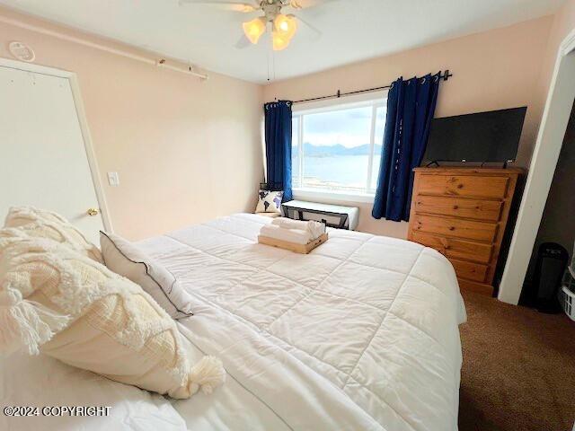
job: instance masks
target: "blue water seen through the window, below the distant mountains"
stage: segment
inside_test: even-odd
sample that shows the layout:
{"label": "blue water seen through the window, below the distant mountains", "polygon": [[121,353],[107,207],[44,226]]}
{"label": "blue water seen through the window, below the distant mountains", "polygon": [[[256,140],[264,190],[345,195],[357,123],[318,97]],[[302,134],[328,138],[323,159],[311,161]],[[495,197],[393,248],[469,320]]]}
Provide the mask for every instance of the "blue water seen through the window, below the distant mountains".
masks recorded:
{"label": "blue water seen through the window, below the distant mountains", "polygon": [[[365,191],[368,163],[367,155],[304,157],[303,187]],[[371,189],[376,188],[379,163],[379,156],[374,157]],[[300,187],[297,157],[293,159],[292,176],[294,187]]]}

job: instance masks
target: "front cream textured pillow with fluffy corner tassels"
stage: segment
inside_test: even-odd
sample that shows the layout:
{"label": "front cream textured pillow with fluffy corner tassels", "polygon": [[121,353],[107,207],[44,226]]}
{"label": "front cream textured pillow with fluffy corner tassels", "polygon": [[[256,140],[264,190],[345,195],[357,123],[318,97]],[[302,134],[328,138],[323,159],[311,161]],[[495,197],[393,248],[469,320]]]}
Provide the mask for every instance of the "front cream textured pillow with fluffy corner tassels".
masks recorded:
{"label": "front cream textured pillow with fluffy corner tassels", "polygon": [[175,322],[140,286],[17,231],[0,230],[0,354],[41,352],[179,399],[224,382],[215,357],[190,366]]}

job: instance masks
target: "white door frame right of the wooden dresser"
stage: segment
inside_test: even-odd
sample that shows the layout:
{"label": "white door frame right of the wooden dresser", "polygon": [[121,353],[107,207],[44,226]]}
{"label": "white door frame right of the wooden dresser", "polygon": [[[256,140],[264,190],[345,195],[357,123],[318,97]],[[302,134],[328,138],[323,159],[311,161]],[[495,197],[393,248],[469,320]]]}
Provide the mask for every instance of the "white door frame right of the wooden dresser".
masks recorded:
{"label": "white door frame right of the wooden dresser", "polygon": [[[509,247],[509,257],[501,278],[498,298],[505,303],[519,302],[525,282],[527,267],[575,100],[573,76],[575,76],[575,29],[562,41],[555,60],[553,78]],[[571,193],[572,190],[567,192]]]}

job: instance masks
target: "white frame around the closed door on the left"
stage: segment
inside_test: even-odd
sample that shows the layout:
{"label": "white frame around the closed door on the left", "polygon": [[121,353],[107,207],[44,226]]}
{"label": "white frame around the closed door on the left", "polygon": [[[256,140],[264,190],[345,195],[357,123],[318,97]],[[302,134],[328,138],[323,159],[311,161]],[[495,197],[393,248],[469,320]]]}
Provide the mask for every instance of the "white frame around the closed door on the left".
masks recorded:
{"label": "white frame around the closed door on the left", "polygon": [[54,67],[40,66],[33,63],[26,63],[23,61],[12,60],[10,58],[4,57],[0,57],[0,66],[22,70],[24,72],[33,72],[41,75],[57,76],[59,78],[66,78],[68,80],[70,89],[72,90],[72,97],[74,98],[75,112],[78,117],[78,123],[80,124],[80,130],[84,140],[86,158],[88,159],[90,173],[92,174],[93,187],[96,192],[96,198],[98,199],[98,206],[100,207],[102,223],[106,231],[113,232],[110,212],[108,210],[108,205],[106,203],[106,198],[102,188],[102,177],[100,176],[100,169],[98,168],[96,154],[93,151],[92,137],[90,136],[90,129],[88,128],[88,121],[86,120],[84,111],[84,102],[82,101],[80,85],[78,84],[78,78],[75,73],[67,70],[56,69]]}

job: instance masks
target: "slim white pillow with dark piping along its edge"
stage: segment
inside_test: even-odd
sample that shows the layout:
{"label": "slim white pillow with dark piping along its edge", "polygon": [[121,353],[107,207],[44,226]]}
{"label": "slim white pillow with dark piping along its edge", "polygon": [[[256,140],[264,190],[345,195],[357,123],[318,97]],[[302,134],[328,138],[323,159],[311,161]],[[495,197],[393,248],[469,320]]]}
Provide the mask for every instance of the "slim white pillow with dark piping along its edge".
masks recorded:
{"label": "slim white pillow with dark piping along its edge", "polygon": [[101,232],[100,247],[106,267],[141,286],[173,319],[193,315],[192,298],[176,277],[137,246],[113,233]]}

